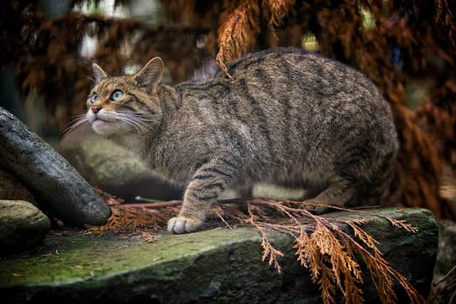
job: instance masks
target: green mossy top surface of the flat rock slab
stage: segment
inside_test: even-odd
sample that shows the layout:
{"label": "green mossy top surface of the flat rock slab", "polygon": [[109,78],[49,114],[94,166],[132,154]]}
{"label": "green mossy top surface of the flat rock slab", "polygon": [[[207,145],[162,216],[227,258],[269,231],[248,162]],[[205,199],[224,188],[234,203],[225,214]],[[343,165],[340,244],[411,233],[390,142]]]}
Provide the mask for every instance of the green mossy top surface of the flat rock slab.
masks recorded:
{"label": "green mossy top surface of the flat rock slab", "polygon": [[[252,229],[202,231],[180,236],[164,234],[155,243],[118,236],[71,234],[51,236],[44,253],[7,258],[0,264],[0,287],[71,283],[91,277],[115,276],[176,259],[193,259],[219,246],[257,239]],[[160,268],[157,271],[165,272]],[[172,271],[169,269],[168,271]]]}

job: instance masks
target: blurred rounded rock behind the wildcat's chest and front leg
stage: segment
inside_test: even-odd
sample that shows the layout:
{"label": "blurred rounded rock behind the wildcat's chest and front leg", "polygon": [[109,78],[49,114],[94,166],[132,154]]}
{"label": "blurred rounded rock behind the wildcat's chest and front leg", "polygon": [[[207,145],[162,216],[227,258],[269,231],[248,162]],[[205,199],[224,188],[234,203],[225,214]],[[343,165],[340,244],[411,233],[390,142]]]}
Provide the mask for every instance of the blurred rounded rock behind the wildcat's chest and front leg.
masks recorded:
{"label": "blurred rounded rock behind the wildcat's chest and front leg", "polygon": [[[86,133],[86,132],[84,132]],[[134,201],[135,196],[151,199],[180,199],[182,189],[160,178],[134,154],[99,135],[69,135],[58,150],[90,183],[109,194]]]}

